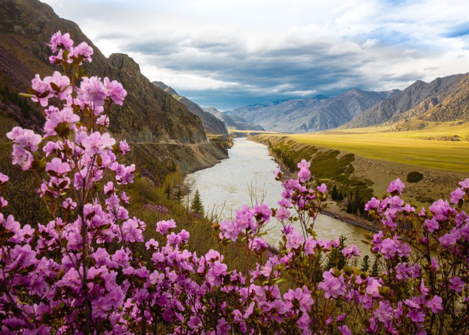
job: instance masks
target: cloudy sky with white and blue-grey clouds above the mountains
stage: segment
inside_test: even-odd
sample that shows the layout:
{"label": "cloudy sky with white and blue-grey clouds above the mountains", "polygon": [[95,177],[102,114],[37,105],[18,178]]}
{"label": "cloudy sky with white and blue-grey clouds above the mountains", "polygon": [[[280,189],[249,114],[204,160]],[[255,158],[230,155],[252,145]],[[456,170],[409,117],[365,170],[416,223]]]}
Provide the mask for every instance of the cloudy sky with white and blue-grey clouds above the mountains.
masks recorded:
{"label": "cloudy sky with white and blue-grey clouds above the mountains", "polygon": [[106,55],[230,110],[469,72],[469,1],[43,0]]}

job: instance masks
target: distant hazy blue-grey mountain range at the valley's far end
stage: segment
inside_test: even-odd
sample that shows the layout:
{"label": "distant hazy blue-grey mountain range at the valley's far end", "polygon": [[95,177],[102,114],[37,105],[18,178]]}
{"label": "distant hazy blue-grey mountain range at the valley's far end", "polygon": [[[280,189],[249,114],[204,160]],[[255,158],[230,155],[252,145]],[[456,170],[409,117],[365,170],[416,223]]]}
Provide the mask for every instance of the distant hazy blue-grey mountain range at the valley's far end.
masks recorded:
{"label": "distant hazy blue-grey mountain range at the valley's far end", "polygon": [[319,95],[312,99],[246,106],[234,109],[228,115],[242,117],[269,131],[314,132],[341,126],[398,92],[400,91],[366,92],[353,89],[335,97]]}

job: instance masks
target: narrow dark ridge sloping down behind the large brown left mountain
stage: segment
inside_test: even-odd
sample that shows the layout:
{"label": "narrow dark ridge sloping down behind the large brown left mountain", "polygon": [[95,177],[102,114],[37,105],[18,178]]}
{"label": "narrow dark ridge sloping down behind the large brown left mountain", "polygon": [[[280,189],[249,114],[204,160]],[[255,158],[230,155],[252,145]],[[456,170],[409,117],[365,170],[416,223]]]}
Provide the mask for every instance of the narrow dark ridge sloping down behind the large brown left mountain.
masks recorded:
{"label": "narrow dark ridge sloping down behind the large brown left mountain", "polygon": [[189,100],[186,97],[179,95],[174,89],[166,85],[161,81],[154,81],[154,85],[158,86],[165,92],[171,94],[173,98],[182,102],[186,107],[195,115],[197,115],[202,120],[202,125],[204,129],[211,134],[227,134],[228,130],[223,121],[216,118],[214,115],[205,112],[198,104]]}

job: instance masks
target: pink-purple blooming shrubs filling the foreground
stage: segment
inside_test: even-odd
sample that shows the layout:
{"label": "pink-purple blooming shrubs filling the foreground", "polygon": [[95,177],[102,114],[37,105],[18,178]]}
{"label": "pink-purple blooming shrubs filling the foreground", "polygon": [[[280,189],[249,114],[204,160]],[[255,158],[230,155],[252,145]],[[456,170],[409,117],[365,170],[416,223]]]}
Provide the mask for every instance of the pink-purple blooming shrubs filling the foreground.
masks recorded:
{"label": "pink-purple blooming shrubs filling the foreground", "polygon": [[[156,223],[160,242],[145,241],[146,224],[130,217],[120,190],[136,169],[119,163],[130,148],[105,132],[109,109],[126,91],[83,76],[80,65],[93,54],[86,43],[75,47],[58,31],[50,47],[65,75],[36,75],[27,95],[42,106],[44,134],[14,127],[7,137],[12,164],[34,173],[51,219],[33,228],[0,213],[2,334],[468,332],[469,178],[451,193],[454,206],[404,205],[399,179],[366,204],[382,228],[367,237],[376,276],[353,266],[356,246],[317,238],[327,187],[311,187],[304,160],[296,179],[277,171],[278,208],[242,206],[233,220],[214,224],[218,250],[187,250],[190,234],[174,220]],[[44,157],[35,159],[39,150]],[[7,182],[0,173],[0,209]],[[278,254],[262,239],[272,217],[283,226]],[[230,243],[244,250],[246,269],[224,263]],[[338,248],[346,260],[340,269],[330,257]]]}

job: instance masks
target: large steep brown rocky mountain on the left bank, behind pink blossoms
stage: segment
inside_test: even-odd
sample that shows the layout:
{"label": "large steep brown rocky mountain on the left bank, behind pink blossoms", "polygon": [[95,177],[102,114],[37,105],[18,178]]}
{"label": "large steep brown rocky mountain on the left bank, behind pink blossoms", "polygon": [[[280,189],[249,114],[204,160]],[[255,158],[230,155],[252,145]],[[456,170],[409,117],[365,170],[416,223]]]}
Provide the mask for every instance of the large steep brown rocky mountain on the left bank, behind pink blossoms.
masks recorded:
{"label": "large steep brown rocky mountain on the left bank, behind pink blossoms", "polygon": [[[46,43],[57,30],[69,32],[75,43],[86,41],[93,47],[85,73],[109,77],[127,90],[123,106],[113,106],[109,131],[117,139],[126,138],[133,147],[131,158],[140,173],[161,180],[166,172],[181,166],[187,172],[210,167],[226,153],[207,141],[200,118],[153,85],[139,65],[125,54],[106,58],[83,34],[78,25],[58,17],[52,8],[37,0],[0,0],[0,124],[36,128],[42,123],[37,105],[20,99],[34,74],[51,75],[50,49]],[[4,134],[7,129],[0,129]]]}

